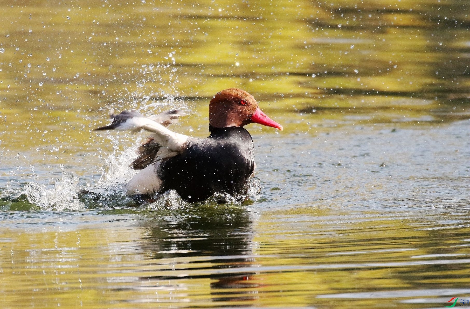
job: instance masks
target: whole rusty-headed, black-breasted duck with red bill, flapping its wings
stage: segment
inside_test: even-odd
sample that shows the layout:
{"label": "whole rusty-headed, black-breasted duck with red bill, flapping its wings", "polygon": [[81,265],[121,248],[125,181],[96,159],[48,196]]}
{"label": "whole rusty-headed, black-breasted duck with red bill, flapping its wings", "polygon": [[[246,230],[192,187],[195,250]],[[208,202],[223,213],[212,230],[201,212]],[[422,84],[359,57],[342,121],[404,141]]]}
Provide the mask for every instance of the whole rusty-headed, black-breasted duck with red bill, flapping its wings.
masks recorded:
{"label": "whole rusty-headed, black-breasted duck with red bill, flapping its wings", "polygon": [[150,195],[174,189],[183,200],[203,201],[214,193],[240,193],[253,175],[253,140],[243,126],[256,123],[282,130],[258,107],[250,93],[223,90],[209,104],[209,131],[196,139],[166,128],[185,114],[172,110],[146,117],[135,111],[111,115],[113,122],[95,130],[151,132],[131,167],[141,170],[126,185],[128,195]]}

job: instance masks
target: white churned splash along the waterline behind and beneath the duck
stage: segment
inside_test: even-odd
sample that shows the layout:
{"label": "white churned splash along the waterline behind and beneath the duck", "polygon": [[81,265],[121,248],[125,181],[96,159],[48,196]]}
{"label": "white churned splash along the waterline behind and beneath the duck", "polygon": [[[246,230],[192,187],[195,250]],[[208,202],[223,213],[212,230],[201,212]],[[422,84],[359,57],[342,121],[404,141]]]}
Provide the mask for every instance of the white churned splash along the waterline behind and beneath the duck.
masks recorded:
{"label": "white churned splash along the waterline behind and beneath the duck", "polygon": [[[2,209],[10,208],[11,202],[28,201],[31,209],[41,210],[83,210],[94,208],[117,208],[117,207],[137,207],[141,202],[126,195],[125,184],[139,171],[129,167],[135,158],[137,145],[125,149],[117,154],[119,149],[119,136],[110,135],[113,142],[113,153],[110,154],[102,167],[102,175],[95,185],[88,185],[86,190],[79,185],[79,179],[72,173],[66,172],[61,165],[62,178],[55,179],[54,187],[47,184],[30,182],[24,185],[22,191],[2,190],[0,199]],[[31,167],[31,170],[32,167]],[[231,204],[241,205],[242,203],[252,203],[260,197],[261,187],[258,178],[251,178],[241,193],[234,196],[227,193],[215,193],[209,199],[196,204],[188,203],[180,198],[178,193],[170,190],[157,196],[157,200],[151,204],[145,204],[143,208],[150,210],[157,209],[184,209],[194,205],[216,205]],[[0,205],[1,206],[1,205]],[[22,206],[24,207],[24,206]]]}

